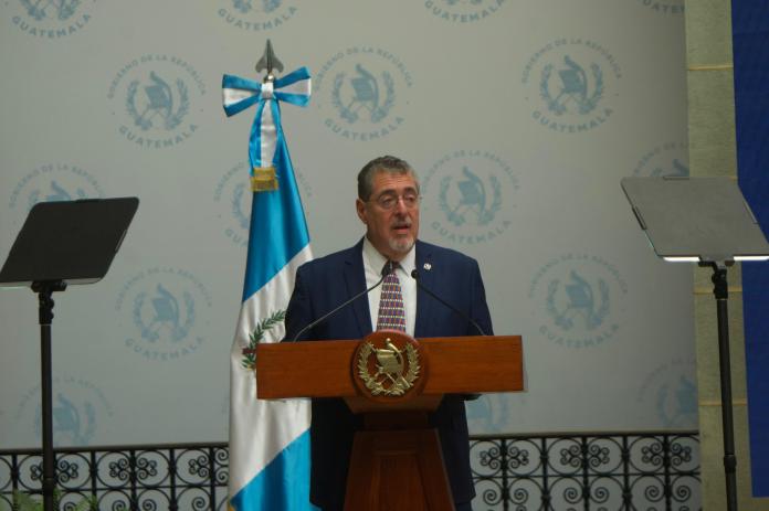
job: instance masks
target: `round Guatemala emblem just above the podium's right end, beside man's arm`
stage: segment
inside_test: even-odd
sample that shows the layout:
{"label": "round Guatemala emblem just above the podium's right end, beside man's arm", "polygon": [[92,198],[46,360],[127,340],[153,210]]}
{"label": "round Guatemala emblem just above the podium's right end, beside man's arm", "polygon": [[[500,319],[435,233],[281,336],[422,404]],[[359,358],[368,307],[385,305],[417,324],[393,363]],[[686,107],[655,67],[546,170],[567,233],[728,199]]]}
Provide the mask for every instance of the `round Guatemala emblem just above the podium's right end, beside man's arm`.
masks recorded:
{"label": "round Guatemala emblem just above the podium's right end, beside man's arm", "polygon": [[565,254],[542,265],[528,298],[538,333],[566,348],[596,348],[614,339],[625,310],[628,284],[599,256]]}

